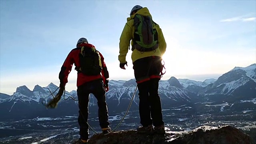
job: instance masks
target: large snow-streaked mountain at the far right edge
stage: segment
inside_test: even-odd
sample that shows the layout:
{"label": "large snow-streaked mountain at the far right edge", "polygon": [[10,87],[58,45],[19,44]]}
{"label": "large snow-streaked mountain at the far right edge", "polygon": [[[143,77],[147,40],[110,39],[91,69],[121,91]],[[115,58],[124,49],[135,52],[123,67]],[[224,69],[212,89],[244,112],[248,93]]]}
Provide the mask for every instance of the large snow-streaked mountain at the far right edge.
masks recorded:
{"label": "large snow-streaked mountain at the far right edge", "polygon": [[256,108],[256,64],[230,70],[198,92],[198,95],[215,104],[225,102],[224,107],[230,110]]}

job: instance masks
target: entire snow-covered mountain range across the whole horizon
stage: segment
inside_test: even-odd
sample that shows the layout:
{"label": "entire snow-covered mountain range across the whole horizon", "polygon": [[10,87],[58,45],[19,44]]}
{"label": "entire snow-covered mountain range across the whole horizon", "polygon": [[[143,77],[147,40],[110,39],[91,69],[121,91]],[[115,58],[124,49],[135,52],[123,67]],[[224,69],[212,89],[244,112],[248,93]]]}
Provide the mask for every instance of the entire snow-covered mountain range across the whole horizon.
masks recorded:
{"label": "entire snow-covered mountain range across the whole horizon", "polygon": [[[64,100],[63,96],[56,109],[47,110],[41,102],[48,102],[52,98],[48,88],[54,92],[58,86],[53,83],[46,87],[36,85],[32,91],[26,86],[20,86],[12,96],[0,94],[0,114],[4,116],[2,118],[78,114],[77,101]],[[136,89],[135,79],[110,80],[109,88],[110,90],[106,93],[109,112],[117,114],[126,111]],[[256,64],[245,68],[236,67],[220,76],[218,80],[208,79],[204,82],[198,82],[188,79],[177,80],[175,77],[171,77],[169,80],[160,80],[158,93],[163,109],[189,106],[191,109],[194,108],[194,112],[204,112],[215,105],[220,106],[223,101],[225,101],[224,106],[228,109],[253,108],[256,107]],[[77,99],[76,90],[66,91],[65,99],[69,96]],[[130,110],[138,110],[138,104],[137,90]],[[97,100],[92,94],[90,95],[89,107],[90,112],[97,113]]]}

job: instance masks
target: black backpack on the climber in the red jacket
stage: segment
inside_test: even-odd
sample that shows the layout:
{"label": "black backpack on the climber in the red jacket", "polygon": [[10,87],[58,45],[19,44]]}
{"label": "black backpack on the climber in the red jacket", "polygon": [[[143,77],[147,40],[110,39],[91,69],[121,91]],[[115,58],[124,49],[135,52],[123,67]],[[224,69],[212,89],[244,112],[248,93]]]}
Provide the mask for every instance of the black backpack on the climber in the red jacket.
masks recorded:
{"label": "black backpack on the climber in the red jacket", "polygon": [[100,74],[102,70],[99,52],[94,47],[83,46],[79,54],[80,72],[88,76]]}

